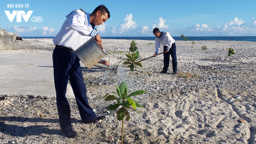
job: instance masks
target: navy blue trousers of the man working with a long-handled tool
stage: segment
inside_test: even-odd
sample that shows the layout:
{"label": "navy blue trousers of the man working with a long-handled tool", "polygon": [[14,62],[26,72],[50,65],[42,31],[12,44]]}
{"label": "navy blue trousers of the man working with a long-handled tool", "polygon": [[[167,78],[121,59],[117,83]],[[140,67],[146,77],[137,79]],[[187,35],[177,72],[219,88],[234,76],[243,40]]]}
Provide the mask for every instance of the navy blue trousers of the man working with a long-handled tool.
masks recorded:
{"label": "navy blue trousers of the man working with a long-handled tool", "polygon": [[[164,51],[167,46],[164,46]],[[168,53],[164,53],[164,68],[163,71],[167,71],[170,63],[170,55],[172,56],[172,71],[177,72],[177,56],[176,56],[176,44],[172,44]]]}

